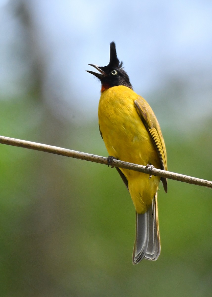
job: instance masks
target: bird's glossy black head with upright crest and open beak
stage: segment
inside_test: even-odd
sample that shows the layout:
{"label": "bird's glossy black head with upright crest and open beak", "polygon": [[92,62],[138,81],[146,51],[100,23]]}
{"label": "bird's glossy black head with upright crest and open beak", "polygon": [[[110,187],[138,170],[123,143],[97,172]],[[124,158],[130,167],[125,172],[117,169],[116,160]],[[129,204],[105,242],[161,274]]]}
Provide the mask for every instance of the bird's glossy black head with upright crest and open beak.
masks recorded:
{"label": "bird's glossy black head with upright crest and open beak", "polygon": [[88,64],[96,68],[100,73],[96,73],[90,70],[87,72],[95,75],[102,83],[101,91],[109,89],[114,86],[126,86],[132,89],[132,85],[129,81],[129,77],[123,69],[123,62],[120,62],[117,58],[115,42],[110,43],[110,62],[107,66],[100,67],[94,64]]}

